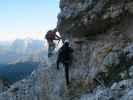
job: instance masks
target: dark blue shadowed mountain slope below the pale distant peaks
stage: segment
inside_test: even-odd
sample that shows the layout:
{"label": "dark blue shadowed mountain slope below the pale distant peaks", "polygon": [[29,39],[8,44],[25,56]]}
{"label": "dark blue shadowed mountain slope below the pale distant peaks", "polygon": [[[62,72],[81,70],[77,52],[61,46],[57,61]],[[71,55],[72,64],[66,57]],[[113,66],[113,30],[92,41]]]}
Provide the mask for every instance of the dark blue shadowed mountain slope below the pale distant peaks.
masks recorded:
{"label": "dark blue shadowed mountain slope below the pale distant peaks", "polygon": [[0,64],[0,77],[7,79],[10,83],[25,78],[37,68],[39,62],[23,62],[16,64]]}

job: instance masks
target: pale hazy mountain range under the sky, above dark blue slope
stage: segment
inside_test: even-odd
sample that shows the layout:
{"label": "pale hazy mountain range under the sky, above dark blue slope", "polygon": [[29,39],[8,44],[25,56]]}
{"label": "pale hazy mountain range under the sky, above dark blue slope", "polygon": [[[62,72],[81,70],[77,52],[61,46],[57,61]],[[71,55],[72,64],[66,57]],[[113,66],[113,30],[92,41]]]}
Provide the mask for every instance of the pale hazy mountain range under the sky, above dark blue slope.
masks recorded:
{"label": "pale hazy mountain range under the sky, above dark blue slope", "polygon": [[44,45],[43,41],[34,39],[16,39],[12,43],[0,43],[0,64],[46,58],[47,50]]}

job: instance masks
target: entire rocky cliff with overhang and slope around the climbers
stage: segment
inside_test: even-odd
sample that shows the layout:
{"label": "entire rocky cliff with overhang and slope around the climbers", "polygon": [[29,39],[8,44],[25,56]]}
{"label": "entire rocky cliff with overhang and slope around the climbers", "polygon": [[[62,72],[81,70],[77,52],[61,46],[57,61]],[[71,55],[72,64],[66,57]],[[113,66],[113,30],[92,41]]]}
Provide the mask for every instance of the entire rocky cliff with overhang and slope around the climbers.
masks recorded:
{"label": "entire rocky cliff with overhang and slope around the climbers", "polygon": [[61,0],[60,8],[58,29],[74,48],[71,84],[55,55],[0,100],[133,100],[132,0]]}

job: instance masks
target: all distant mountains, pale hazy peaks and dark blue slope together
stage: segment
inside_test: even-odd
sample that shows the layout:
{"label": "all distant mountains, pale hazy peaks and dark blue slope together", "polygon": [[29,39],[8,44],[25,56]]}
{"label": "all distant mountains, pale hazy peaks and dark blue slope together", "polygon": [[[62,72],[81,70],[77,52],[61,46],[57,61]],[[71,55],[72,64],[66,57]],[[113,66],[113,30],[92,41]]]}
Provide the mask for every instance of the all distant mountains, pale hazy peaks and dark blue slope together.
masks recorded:
{"label": "all distant mountains, pale hazy peaks and dark blue slope together", "polygon": [[0,42],[0,79],[7,79],[11,83],[21,80],[30,75],[46,57],[47,50],[41,40]]}

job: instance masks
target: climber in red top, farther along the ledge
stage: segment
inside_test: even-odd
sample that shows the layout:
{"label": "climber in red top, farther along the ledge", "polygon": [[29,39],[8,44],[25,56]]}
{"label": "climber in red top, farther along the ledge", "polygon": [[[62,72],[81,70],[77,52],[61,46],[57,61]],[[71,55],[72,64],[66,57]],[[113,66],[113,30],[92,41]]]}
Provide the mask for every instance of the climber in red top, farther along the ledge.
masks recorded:
{"label": "climber in red top, farther along the ledge", "polygon": [[45,38],[48,42],[48,57],[52,56],[52,52],[55,49],[55,43],[53,40],[60,40],[61,37],[56,35],[57,29],[49,30],[45,35]]}

